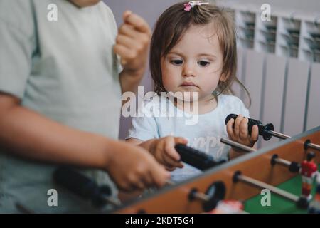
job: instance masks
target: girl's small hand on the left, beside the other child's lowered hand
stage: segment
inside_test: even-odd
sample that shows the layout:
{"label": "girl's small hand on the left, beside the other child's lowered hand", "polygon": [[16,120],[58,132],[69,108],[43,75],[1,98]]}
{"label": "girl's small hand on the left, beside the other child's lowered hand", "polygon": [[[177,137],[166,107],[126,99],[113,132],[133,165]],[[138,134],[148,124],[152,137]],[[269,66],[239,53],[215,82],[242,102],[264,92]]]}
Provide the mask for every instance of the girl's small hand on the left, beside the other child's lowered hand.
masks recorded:
{"label": "girl's small hand on the left, beside the other child's lowered hand", "polygon": [[188,141],[185,138],[173,136],[159,138],[151,143],[150,152],[167,170],[173,171],[176,167],[183,167],[182,162],[180,162],[180,155],[174,148],[179,143],[186,145]]}

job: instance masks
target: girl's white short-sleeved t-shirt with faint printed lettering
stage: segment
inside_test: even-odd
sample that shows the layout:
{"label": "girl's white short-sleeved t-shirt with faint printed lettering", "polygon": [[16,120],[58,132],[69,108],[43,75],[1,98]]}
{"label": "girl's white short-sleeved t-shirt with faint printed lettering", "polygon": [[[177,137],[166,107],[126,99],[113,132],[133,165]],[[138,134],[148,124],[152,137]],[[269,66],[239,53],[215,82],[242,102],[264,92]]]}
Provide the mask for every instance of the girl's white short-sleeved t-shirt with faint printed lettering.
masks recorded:
{"label": "girl's white short-sleeved t-shirt with faint printed lettering", "polygon": [[[183,112],[169,99],[156,95],[145,101],[137,113],[143,113],[144,116],[132,118],[132,128],[127,138],[143,141],[168,135],[187,138],[188,146],[206,152],[217,161],[228,160],[230,146],[220,142],[220,138],[228,138],[225,126],[227,115],[235,113],[250,116],[242,101],[234,95],[219,95],[217,107],[200,115]],[[171,180],[178,182],[200,173],[195,167],[184,164],[182,169],[171,172]]]}

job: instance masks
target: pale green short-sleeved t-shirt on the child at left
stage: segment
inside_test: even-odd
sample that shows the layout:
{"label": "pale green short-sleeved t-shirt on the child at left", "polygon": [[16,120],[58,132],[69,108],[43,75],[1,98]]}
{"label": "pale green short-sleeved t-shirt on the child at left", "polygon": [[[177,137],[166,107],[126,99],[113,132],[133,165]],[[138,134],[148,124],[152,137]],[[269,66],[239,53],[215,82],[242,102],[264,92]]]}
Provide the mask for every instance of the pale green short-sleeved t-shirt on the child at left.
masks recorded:
{"label": "pale green short-sleeved t-shirt on the child at left", "polygon": [[[58,21],[48,20],[49,4]],[[59,123],[117,139],[116,36],[102,1],[80,9],[66,0],[0,0],[0,91]],[[86,212],[85,202],[53,183],[55,168],[0,151],[0,212],[16,212],[16,202],[35,212]],[[87,173],[110,183],[102,172]],[[58,207],[48,206],[49,189],[58,191]]]}

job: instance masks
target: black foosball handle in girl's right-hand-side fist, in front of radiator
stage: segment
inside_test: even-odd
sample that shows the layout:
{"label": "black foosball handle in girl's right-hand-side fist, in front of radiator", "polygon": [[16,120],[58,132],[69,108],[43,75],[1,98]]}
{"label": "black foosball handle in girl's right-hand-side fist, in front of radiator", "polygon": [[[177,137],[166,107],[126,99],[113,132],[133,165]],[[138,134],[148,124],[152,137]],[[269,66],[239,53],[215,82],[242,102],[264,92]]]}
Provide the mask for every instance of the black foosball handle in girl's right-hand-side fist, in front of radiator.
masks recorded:
{"label": "black foosball handle in girl's right-hand-side fist, in front of radiator", "polygon": [[[233,119],[235,120],[238,117],[238,115],[236,114],[229,114],[227,116],[227,118],[225,118],[225,125],[228,123],[229,120]],[[259,129],[259,135],[262,135],[264,140],[270,140],[270,138],[272,138],[272,135],[270,135],[270,133],[268,133],[268,130],[274,130],[274,125],[272,123],[267,123],[266,125],[262,125],[262,122],[259,120],[255,120],[255,119],[251,119],[248,118],[248,123],[247,123],[247,131],[249,133],[249,135],[251,135],[252,133],[252,127],[254,125],[257,125],[258,129]],[[233,124],[233,128],[235,127],[235,125]]]}

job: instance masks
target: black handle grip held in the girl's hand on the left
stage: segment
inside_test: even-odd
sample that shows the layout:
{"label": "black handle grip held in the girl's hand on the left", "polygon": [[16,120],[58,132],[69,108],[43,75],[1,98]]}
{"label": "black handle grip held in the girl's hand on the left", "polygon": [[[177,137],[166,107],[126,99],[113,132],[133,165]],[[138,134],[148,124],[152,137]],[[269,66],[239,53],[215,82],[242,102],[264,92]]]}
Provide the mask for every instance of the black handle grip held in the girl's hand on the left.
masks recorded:
{"label": "black handle grip held in the girl's hand on the left", "polygon": [[183,144],[177,144],[175,148],[181,156],[181,161],[199,170],[208,170],[225,162],[216,162],[212,156]]}

